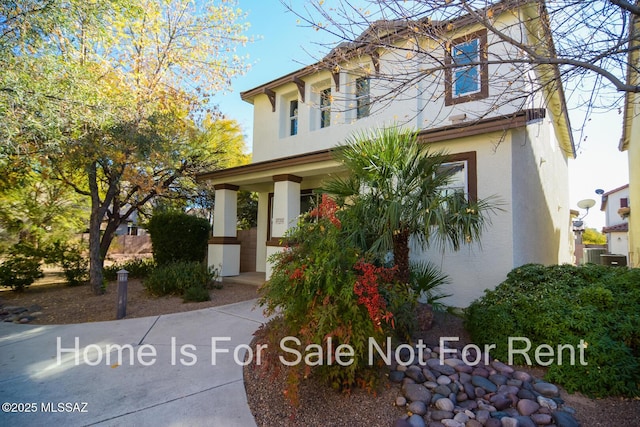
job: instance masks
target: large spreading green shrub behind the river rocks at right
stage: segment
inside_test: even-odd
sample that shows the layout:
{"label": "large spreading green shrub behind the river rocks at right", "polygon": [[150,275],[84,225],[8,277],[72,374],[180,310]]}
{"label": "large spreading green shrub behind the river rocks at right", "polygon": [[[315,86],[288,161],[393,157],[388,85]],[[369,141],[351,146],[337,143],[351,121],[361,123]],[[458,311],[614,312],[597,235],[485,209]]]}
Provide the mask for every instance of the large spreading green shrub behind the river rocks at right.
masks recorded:
{"label": "large spreading green shrub behind the river rocks at right", "polygon": [[547,379],[569,392],[595,397],[638,396],[638,307],[639,269],[530,264],[514,269],[495,290],[474,301],[465,325],[476,344],[497,344],[491,355],[505,361],[508,337],[527,337],[532,349],[540,344],[576,348],[583,340],[587,365],[579,360],[573,365],[553,363]]}

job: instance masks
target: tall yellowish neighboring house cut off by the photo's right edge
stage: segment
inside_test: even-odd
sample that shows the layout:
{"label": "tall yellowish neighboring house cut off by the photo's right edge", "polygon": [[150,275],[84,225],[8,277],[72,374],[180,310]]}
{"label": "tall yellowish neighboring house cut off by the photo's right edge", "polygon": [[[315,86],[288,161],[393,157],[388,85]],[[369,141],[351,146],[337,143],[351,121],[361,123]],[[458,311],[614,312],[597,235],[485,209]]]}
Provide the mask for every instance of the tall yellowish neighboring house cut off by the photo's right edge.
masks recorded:
{"label": "tall yellowish neighboring house cut off by the photo's right edge", "polygon": [[[632,14],[630,31],[640,32],[640,21]],[[629,64],[640,63],[640,40],[631,38],[629,47]],[[640,86],[638,66],[627,69],[627,83]],[[629,267],[640,267],[640,97],[638,93],[627,92],[625,96],[624,118],[622,122],[622,138],[620,151],[626,151],[629,157],[629,253],[627,261]],[[635,214],[634,214],[635,212]]]}

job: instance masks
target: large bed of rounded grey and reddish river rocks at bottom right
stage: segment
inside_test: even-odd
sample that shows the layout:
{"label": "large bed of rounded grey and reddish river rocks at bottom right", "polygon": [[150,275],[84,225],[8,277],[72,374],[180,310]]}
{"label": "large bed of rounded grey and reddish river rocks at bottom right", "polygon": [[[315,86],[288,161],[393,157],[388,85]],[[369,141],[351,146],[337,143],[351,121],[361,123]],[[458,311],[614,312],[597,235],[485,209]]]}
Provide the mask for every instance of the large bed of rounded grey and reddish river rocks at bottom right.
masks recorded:
{"label": "large bed of rounded grey and reddish river rocks at bottom right", "polygon": [[558,387],[528,372],[473,351],[463,355],[458,349],[403,347],[389,373],[399,386],[394,404],[406,410],[395,427],[580,425]]}

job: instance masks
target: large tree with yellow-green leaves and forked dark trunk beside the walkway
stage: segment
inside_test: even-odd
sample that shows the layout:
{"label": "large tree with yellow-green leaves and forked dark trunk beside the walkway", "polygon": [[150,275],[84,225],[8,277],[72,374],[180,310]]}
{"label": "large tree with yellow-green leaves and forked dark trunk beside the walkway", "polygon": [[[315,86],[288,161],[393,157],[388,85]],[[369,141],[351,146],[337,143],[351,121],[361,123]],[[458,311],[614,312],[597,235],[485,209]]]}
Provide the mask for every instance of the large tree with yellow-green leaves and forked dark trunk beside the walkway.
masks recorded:
{"label": "large tree with yellow-green leaves and forked dark trunk beside the walkway", "polygon": [[129,3],[23,0],[0,13],[0,66],[11,70],[0,77],[0,169],[46,163],[89,197],[96,293],[118,225],[179,194],[195,171],[226,166],[221,151],[239,151],[212,137],[206,113],[245,69],[233,54],[247,41],[242,13],[231,1]]}

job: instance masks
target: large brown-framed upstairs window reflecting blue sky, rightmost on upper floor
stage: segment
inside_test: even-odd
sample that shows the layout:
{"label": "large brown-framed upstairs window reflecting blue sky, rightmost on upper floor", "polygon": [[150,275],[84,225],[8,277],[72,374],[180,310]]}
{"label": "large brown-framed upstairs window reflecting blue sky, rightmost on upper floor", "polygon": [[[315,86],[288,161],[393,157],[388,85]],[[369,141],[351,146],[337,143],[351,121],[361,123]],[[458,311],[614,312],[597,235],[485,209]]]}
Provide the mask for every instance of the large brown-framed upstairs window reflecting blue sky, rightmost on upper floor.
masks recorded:
{"label": "large brown-framed upstairs window reflecting blue sky, rightmost on upper floor", "polygon": [[489,96],[486,61],[487,33],[481,31],[454,40],[446,56],[445,104],[452,105]]}

